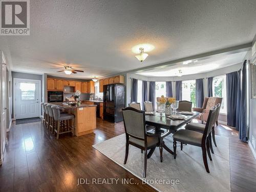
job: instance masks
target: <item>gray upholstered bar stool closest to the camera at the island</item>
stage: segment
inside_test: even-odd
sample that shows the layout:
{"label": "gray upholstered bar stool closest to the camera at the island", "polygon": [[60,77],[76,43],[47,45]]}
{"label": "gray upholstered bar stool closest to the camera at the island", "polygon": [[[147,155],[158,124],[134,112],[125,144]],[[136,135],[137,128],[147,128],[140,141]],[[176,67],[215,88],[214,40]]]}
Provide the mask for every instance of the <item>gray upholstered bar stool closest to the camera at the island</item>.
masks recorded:
{"label": "gray upholstered bar stool closest to the camera at the island", "polygon": [[[53,110],[54,120],[57,121],[57,126],[54,129],[54,132],[57,134],[56,139],[59,138],[60,134],[64,134],[64,133],[72,132],[72,135],[74,135],[75,116],[72,114],[60,114],[60,108],[58,106],[53,105],[51,106],[51,108]],[[73,126],[70,126],[71,125],[71,123],[69,123],[70,120],[73,121]]]}

